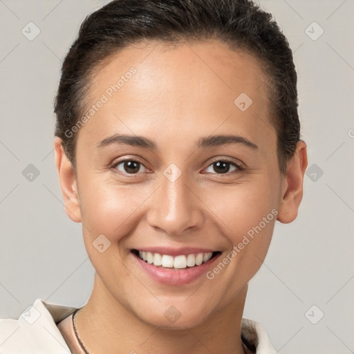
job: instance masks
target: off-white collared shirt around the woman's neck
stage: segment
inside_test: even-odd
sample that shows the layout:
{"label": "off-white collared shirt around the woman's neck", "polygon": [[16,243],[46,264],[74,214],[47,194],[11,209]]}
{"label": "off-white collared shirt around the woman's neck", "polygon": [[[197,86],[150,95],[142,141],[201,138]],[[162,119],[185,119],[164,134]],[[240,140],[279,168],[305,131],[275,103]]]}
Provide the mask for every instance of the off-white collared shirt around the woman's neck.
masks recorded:
{"label": "off-white collared shirt around the woman's neck", "polygon": [[[19,319],[0,319],[0,353],[83,354],[72,325],[76,309],[37,299]],[[276,353],[257,322],[243,318],[241,338],[246,346],[257,348],[257,354]]]}

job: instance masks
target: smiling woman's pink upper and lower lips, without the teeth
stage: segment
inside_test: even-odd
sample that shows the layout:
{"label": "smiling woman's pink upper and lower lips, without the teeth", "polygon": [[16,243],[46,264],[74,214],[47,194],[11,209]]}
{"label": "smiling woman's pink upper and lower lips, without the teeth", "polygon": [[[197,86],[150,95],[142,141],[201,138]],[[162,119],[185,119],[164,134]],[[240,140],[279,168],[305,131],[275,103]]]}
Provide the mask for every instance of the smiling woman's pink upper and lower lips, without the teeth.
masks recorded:
{"label": "smiling woman's pink upper and lower lips, without the teeth", "polygon": [[[146,251],[146,252],[151,252],[151,250],[152,248],[142,249],[142,251]],[[153,248],[154,252],[160,253],[158,252],[158,250],[161,251],[162,248]],[[166,250],[167,249],[165,249],[164,252],[166,252]],[[190,252],[191,250],[192,250],[191,248],[188,248],[185,249],[183,253],[178,253],[178,254],[176,253],[175,255],[178,256],[180,254],[212,252],[212,250],[203,250],[203,252],[201,252],[200,248],[198,248],[199,252]],[[169,252],[166,253],[164,252],[162,252],[162,254],[173,255],[170,253],[171,249],[169,249]],[[178,250],[178,252],[180,252],[180,250]],[[212,259],[209,259],[209,261],[201,265],[196,265],[191,268],[184,268],[178,270],[172,270],[169,268],[158,268],[156,267],[156,265],[149,264],[143,261],[133,252],[131,252],[131,255],[137,261],[138,266],[140,266],[141,269],[154,281],[157,281],[158,283],[162,283],[165,285],[170,285],[170,286],[181,286],[181,285],[192,283],[192,281],[196,281],[196,279],[200,279],[201,277],[203,277],[207,272],[207,270],[209,270],[209,268],[212,268],[214,262],[221,256],[221,252],[216,254],[214,257],[212,257]]]}

